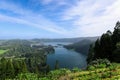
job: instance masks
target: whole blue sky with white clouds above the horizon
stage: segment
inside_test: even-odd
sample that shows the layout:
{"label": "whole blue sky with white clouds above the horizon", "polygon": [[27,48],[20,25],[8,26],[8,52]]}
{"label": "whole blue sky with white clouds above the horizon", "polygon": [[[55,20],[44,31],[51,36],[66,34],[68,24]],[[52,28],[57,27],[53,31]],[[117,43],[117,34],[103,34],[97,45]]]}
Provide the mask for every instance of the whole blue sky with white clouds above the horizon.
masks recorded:
{"label": "whole blue sky with white clouds above the horizon", "polygon": [[0,39],[100,36],[120,20],[120,0],[0,0]]}

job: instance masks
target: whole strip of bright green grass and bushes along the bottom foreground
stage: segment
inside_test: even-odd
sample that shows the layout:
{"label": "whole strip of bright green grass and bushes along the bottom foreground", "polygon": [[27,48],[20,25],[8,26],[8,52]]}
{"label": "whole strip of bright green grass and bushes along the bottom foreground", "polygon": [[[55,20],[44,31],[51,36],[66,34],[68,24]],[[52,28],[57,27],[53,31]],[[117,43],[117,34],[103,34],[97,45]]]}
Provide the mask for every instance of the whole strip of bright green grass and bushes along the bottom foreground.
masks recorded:
{"label": "whole strip of bright green grass and bushes along the bottom foreground", "polygon": [[120,80],[120,64],[89,66],[87,70],[58,69],[47,74],[40,74],[39,77],[34,73],[21,73],[16,76],[15,80]]}

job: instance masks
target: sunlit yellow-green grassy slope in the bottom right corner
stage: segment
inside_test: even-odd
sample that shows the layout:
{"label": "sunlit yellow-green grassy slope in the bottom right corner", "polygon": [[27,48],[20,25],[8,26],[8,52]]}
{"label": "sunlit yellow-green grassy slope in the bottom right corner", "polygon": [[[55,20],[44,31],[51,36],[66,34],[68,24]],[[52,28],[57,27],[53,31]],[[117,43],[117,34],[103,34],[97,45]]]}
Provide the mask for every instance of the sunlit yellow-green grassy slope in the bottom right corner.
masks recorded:
{"label": "sunlit yellow-green grassy slope in the bottom right corner", "polygon": [[79,71],[61,76],[59,80],[120,80],[120,65],[116,68],[100,68]]}

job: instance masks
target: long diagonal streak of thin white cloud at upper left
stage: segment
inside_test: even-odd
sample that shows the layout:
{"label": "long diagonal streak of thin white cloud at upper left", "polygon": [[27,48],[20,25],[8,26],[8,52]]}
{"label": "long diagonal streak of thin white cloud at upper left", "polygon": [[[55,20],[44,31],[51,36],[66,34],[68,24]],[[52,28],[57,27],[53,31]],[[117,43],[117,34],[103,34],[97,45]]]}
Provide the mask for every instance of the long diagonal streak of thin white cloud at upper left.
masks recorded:
{"label": "long diagonal streak of thin white cloud at upper left", "polygon": [[40,14],[35,14],[29,10],[22,9],[19,6],[6,2],[0,2],[0,5],[0,9],[11,11],[12,13],[19,15],[17,17],[13,17],[0,13],[0,21],[24,24],[62,35],[67,33],[64,28],[59,27],[57,24]]}

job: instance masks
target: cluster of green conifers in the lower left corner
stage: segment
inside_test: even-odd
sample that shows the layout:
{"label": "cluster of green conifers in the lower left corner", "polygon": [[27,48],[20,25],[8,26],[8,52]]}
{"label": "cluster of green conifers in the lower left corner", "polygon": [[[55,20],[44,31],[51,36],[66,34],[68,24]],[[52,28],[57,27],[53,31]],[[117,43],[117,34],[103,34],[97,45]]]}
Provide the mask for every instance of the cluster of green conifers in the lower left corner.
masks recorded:
{"label": "cluster of green conifers in the lower left corner", "polygon": [[24,72],[28,72],[25,60],[4,57],[0,59],[0,79],[14,78],[17,74]]}

